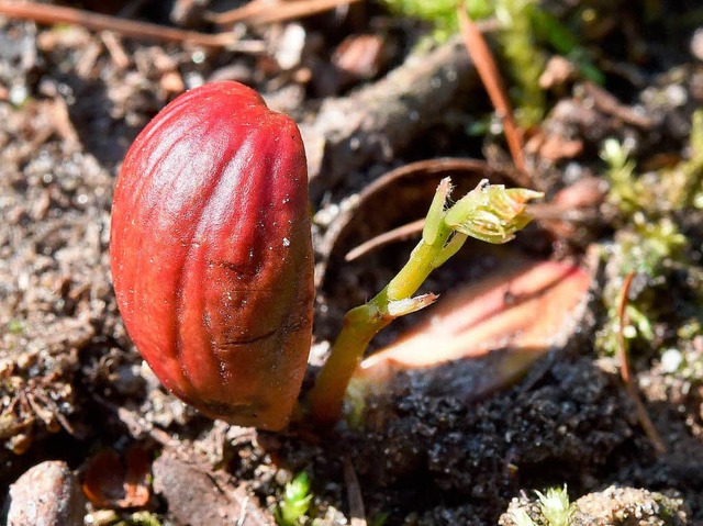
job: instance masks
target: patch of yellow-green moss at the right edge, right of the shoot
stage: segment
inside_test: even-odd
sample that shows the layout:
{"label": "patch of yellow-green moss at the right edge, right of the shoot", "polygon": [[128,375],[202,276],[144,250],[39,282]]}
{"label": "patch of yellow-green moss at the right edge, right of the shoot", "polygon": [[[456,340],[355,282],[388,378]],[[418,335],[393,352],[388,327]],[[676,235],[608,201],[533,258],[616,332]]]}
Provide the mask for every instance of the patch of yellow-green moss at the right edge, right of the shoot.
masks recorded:
{"label": "patch of yellow-green moss at the right edge, right of the shoot", "polygon": [[[607,164],[605,177],[610,182],[607,201],[617,210],[618,219],[613,242],[602,245],[606,261],[603,302],[607,310],[596,336],[602,354],[617,349],[617,304],[623,279],[629,272],[637,275],[638,282],[628,298],[629,325],[624,335],[635,349],[651,348],[656,325],[662,322],[673,327],[669,339],[659,342],[669,346],[685,345],[676,327],[700,329],[701,271],[692,257],[700,240],[684,235],[682,220],[700,214],[696,210],[703,204],[703,112],[693,114],[689,149],[690,157],[673,168],[639,175],[625,146],[614,139],[603,146],[601,157]],[[685,333],[689,337],[692,334]]]}

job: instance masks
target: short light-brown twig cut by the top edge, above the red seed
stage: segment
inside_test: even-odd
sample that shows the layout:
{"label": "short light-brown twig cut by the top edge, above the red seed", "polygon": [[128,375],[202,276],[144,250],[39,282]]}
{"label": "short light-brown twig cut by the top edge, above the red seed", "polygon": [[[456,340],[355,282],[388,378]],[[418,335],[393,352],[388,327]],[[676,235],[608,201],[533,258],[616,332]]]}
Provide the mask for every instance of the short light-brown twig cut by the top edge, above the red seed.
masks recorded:
{"label": "short light-brown twig cut by the top edge, above the red seed", "polygon": [[339,5],[347,5],[360,0],[299,0],[297,2],[261,3],[253,1],[224,13],[209,13],[205,18],[217,25],[235,22],[250,24],[270,24],[291,19],[311,16]]}

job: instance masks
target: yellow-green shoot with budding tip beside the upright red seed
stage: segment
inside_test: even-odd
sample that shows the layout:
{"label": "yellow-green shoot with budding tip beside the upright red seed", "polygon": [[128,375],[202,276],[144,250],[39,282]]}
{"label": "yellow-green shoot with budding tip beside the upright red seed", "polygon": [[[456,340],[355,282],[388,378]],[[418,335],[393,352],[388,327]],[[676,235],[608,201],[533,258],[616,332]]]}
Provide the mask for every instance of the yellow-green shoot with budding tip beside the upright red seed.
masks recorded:
{"label": "yellow-green shoot with budding tip beside the upright red seed", "polygon": [[373,299],[345,315],[332,354],[310,393],[311,412],[319,423],[331,425],[339,418],[347,385],[371,338],[397,317],[435,301],[434,294],[413,296],[429,273],[456,254],[468,236],[494,244],[511,240],[531,220],[525,212],[527,201],[542,197],[533,190],[506,190],[484,180],[446,209],[449,193],[450,182],[445,179],[408,264]]}

